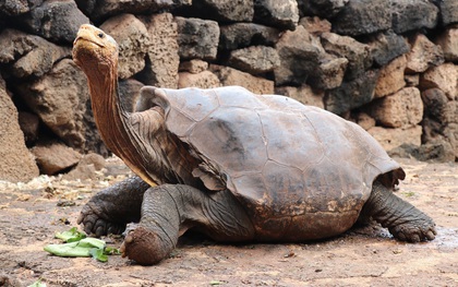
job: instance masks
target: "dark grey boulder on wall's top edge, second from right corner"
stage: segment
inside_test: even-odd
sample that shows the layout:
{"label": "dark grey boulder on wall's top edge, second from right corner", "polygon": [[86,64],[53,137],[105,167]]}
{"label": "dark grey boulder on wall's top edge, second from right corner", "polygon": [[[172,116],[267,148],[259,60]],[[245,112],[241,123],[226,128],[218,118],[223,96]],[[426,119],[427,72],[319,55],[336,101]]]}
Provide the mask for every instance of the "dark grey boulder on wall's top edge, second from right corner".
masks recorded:
{"label": "dark grey boulder on wall's top edge, second from right corner", "polygon": [[393,31],[402,34],[420,28],[434,28],[438,8],[427,0],[396,0],[391,2]]}

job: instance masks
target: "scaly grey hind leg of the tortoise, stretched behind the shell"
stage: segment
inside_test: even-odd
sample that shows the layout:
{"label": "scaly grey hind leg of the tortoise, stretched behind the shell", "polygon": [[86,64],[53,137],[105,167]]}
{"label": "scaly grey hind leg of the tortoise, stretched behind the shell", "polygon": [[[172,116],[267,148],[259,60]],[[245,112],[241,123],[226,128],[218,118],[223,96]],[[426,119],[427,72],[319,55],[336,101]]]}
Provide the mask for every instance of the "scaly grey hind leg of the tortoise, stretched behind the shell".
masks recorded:
{"label": "scaly grey hind leg of the tortoise, stretched behind the shell", "polygon": [[420,242],[433,240],[436,229],[433,219],[410,203],[396,196],[388,188],[374,181],[372,194],[362,210],[398,240]]}

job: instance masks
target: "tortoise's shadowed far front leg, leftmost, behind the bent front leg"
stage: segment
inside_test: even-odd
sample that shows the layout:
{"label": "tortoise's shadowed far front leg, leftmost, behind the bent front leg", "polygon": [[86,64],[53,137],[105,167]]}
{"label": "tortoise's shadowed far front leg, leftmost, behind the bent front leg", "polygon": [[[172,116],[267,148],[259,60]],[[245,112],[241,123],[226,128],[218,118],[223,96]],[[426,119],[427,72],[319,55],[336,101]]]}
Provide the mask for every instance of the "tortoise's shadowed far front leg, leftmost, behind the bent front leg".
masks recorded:
{"label": "tortoise's shadowed far front leg, leftmost, behind the bent front leg", "polygon": [[148,188],[141,178],[132,177],[101,190],[83,206],[77,224],[97,237],[120,235],[128,223],[140,220],[143,194]]}

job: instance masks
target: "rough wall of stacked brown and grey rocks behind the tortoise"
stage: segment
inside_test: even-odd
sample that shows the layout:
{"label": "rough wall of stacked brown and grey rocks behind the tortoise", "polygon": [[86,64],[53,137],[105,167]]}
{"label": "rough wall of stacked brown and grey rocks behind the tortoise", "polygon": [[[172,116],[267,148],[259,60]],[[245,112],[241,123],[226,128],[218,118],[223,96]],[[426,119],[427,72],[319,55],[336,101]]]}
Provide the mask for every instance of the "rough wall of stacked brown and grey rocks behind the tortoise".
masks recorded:
{"label": "rough wall of stacked brown and grey rocks behind the tortoise", "polygon": [[0,180],[109,154],[71,60],[83,23],[119,43],[130,107],[145,84],[241,85],[353,120],[398,155],[458,157],[456,0],[11,0],[0,1]]}

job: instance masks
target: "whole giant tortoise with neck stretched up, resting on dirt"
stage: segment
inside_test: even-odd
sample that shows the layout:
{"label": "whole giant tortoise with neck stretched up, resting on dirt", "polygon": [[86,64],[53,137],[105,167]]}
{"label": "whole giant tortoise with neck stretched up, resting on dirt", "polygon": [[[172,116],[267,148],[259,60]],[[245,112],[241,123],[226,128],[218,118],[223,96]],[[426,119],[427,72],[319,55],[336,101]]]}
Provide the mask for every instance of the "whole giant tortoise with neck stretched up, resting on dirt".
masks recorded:
{"label": "whole giant tortoise with neck stretched up, resting on dirt", "polygon": [[100,191],[79,223],[129,230],[123,255],[154,264],[194,229],[222,242],[303,242],[372,217],[398,240],[435,237],[433,220],[393,193],[402,168],[359,125],[238,86],[145,86],[135,112],[118,94],[118,46],[82,25],[73,59],[87,75],[106,145],[135,172]]}

